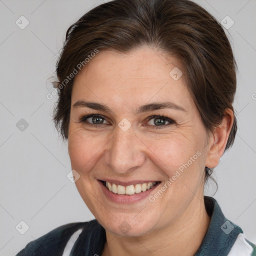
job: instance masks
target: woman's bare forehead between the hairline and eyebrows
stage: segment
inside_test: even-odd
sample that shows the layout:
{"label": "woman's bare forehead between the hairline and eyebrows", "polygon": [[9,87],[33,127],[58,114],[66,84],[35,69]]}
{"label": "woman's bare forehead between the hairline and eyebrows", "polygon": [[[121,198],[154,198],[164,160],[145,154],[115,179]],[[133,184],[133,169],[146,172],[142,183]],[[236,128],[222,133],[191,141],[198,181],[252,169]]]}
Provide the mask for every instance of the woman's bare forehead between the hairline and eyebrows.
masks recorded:
{"label": "woman's bare forehead between the hairline and eyebrows", "polygon": [[184,75],[179,59],[149,47],[99,51],[75,76],[72,103],[89,99],[135,108],[150,100],[171,100],[191,107]]}

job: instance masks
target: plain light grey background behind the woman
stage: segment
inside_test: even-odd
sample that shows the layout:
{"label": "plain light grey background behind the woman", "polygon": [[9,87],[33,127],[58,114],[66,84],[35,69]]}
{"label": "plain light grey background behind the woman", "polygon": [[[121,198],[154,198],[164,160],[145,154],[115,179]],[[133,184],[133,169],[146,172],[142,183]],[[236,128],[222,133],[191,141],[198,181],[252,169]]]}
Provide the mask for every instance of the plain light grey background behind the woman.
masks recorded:
{"label": "plain light grey background behind the woman", "polygon": [[[14,255],[59,225],[94,218],[66,177],[71,170],[67,143],[58,138],[51,121],[56,98],[46,98],[52,88],[45,80],[54,75],[68,26],[102,2],[0,0],[0,255]],[[215,168],[214,198],[256,243],[256,1],[195,2],[219,21],[226,15],[234,21],[225,31],[239,69],[234,102],[238,132]],[[15,23],[21,15],[29,21],[24,29]],[[16,126],[21,118],[28,123],[23,131]],[[214,190],[210,183],[205,194]],[[24,234],[15,229],[21,220],[29,226]],[[19,224],[17,229],[24,228]]]}

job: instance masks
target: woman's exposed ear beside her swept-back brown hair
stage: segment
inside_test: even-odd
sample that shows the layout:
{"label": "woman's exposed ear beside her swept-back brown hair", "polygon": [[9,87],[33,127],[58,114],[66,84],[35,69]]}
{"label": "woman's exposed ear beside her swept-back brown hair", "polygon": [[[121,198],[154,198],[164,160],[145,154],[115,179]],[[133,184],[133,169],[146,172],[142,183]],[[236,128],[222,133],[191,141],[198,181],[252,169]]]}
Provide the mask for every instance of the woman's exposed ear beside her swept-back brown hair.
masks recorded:
{"label": "woman's exposed ear beside her swept-back brown hair", "polygon": [[226,142],[233,125],[234,114],[230,108],[225,110],[221,123],[214,129],[208,144],[205,166],[214,168],[225,150]]}

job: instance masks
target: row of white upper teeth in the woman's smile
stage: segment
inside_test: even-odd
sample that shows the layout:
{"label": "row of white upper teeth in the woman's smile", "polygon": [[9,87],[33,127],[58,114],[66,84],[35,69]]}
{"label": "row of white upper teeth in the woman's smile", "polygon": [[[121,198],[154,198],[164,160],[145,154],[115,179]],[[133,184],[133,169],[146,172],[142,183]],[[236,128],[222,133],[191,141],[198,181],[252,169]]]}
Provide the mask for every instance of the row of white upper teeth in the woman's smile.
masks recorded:
{"label": "row of white upper teeth in the woman's smile", "polygon": [[134,194],[140,193],[141,191],[145,191],[153,187],[156,182],[147,182],[142,184],[134,184],[128,186],[117,185],[115,183],[110,183],[108,181],[105,182],[105,186],[108,188],[109,191],[117,194]]}

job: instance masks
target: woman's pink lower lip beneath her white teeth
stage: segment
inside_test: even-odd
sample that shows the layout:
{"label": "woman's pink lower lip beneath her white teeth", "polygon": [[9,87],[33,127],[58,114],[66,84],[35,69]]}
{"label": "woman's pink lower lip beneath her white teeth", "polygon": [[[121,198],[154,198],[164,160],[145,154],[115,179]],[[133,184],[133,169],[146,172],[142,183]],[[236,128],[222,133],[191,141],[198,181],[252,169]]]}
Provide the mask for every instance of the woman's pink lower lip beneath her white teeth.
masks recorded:
{"label": "woman's pink lower lip beneath her white teeth", "polygon": [[137,193],[137,194],[134,193],[134,194],[128,195],[128,194],[117,194],[117,193],[115,194],[109,191],[101,181],[98,180],[98,182],[105,196],[111,201],[116,203],[132,203],[132,202],[143,200],[144,198],[149,197],[150,193],[152,193],[156,189],[156,187],[161,183],[160,182],[155,184],[152,188],[145,190],[144,192],[141,191],[140,193]]}

